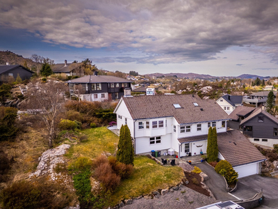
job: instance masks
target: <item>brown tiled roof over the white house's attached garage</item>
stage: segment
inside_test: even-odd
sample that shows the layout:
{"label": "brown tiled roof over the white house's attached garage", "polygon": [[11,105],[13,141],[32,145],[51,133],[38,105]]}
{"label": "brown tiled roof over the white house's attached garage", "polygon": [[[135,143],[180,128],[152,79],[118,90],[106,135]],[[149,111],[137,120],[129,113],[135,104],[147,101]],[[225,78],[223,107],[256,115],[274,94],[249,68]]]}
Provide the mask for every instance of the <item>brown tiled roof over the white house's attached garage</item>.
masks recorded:
{"label": "brown tiled roof over the white house's attached garage", "polygon": [[218,150],[232,167],[265,160],[265,156],[239,130],[219,133]]}

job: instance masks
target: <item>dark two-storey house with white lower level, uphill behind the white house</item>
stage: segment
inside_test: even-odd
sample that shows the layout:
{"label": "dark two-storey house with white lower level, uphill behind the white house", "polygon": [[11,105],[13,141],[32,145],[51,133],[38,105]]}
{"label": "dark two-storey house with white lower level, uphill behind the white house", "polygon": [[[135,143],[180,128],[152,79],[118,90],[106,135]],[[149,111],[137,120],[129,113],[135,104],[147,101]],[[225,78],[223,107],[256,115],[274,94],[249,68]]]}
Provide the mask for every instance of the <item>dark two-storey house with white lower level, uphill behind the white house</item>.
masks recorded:
{"label": "dark two-storey house with white lower level, uphill behind the white house", "polygon": [[[86,75],[67,83],[73,94],[80,94],[81,100],[87,101],[118,100],[124,95],[124,91],[131,91],[130,81],[108,75]],[[82,88],[78,88],[79,84]]]}

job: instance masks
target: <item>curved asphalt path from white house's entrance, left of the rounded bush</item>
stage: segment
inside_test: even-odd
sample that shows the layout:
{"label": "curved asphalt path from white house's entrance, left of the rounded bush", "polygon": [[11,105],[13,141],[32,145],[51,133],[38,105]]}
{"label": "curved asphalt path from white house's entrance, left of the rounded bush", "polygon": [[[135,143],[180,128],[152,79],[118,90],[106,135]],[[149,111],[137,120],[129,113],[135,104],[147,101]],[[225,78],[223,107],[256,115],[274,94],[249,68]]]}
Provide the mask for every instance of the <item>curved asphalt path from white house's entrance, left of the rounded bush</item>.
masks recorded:
{"label": "curved asphalt path from white house's entrance, left of the rounded bush", "polygon": [[199,169],[208,175],[208,180],[205,180],[205,183],[213,193],[215,199],[218,201],[237,200],[236,197],[226,191],[226,183],[223,176],[216,173],[213,167],[205,162],[194,164],[194,166],[199,167]]}

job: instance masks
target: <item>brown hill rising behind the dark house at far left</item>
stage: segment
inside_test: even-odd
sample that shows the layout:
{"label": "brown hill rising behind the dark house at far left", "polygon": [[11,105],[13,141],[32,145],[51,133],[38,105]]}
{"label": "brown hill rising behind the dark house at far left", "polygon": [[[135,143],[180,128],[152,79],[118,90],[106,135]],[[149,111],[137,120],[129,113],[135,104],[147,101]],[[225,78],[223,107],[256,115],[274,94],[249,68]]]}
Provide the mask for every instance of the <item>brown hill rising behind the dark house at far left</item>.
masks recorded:
{"label": "brown hill rising behind the dark house at far left", "polygon": [[22,55],[15,54],[10,51],[0,51],[0,65],[22,65],[28,67],[30,70],[36,71],[40,68],[40,63],[35,63],[31,59],[24,58]]}

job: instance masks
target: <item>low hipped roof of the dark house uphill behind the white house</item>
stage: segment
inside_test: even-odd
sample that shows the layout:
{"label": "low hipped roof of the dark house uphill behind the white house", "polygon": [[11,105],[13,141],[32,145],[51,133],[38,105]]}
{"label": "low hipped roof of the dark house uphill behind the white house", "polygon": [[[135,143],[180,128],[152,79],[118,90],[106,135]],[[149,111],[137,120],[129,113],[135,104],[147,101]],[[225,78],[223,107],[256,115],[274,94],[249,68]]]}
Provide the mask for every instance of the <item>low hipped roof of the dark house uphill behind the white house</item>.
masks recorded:
{"label": "low hipped roof of the dark house uphill behind the white house", "polygon": [[88,83],[132,83],[126,79],[111,75],[86,75],[68,81],[68,83],[88,84]]}

